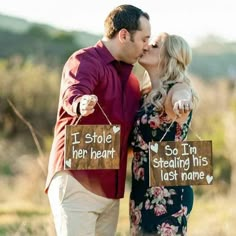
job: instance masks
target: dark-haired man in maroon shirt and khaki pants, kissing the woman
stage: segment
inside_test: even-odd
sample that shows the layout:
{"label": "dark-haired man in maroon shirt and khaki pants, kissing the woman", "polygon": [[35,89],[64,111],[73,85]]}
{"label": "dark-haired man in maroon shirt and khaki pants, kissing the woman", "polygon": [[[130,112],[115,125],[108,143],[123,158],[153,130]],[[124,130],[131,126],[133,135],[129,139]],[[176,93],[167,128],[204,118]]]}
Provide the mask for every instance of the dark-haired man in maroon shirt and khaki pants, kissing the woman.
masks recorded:
{"label": "dark-haired man in maroon shirt and khaki pants, kissing the woman", "polygon": [[[105,34],[66,62],[45,191],[57,235],[115,235],[124,196],[128,136],[139,106],[139,83],[131,70],[148,49],[149,15],[121,5],[105,19]],[[98,107],[101,106],[102,110]],[[121,125],[120,169],[64,170],[65,126]],[[82,119],[79,119],[82,117]]]}

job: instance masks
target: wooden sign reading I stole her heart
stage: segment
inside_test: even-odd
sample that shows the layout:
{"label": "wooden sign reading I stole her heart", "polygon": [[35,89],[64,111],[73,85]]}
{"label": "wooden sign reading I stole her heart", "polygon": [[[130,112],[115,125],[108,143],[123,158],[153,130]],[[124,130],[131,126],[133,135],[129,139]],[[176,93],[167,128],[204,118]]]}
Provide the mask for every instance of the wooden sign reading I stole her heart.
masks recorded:
{"label": "wooden sign reading I stole her heart", "polygon": [[66,126],[64,169],[119,169],[119,125]]}

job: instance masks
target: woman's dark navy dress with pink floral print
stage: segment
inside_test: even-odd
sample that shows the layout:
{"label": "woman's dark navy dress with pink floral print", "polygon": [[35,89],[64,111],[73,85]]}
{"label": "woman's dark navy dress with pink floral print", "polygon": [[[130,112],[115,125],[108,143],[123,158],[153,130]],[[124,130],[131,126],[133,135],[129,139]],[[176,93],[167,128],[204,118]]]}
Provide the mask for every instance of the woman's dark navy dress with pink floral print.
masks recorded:
{"label": "woman's dark navy dress with pink floral print", "polygon": [[187,136],[191,121],[186,124],[168,120],[153,105],[137,114],[131,144],[133,147],[132,188],[130,194],[131,235],[187,235],[187,217],[193,205],[191,186],[149,186],[149,142],[181,141]]}

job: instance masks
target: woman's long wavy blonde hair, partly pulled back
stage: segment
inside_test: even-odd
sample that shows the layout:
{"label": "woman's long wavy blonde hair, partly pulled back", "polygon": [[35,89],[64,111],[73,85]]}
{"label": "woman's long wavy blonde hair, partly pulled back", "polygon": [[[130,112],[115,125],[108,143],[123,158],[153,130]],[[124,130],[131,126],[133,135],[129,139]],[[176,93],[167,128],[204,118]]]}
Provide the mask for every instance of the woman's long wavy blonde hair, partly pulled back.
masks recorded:
{"label": "woman's long wavy blonde hair, partly pulled back", "polygon": [[[159,86],[158,89],[152,90],[148,94],[144,102],[144,107],[151,103],[158,111],[164,110],[163,104],[171,84],[185,82],[191,87],[191,81],[187,77],[187,68],[192,60],[192,49],[180,36],[167,33],[162,35],[165,37],[161,46],[162,50],[158,64],[160,73]],[[144,76],[148,76],[148,73],[145,72]],[[197,96],[193,91],[193,100],[196,98]]]}

